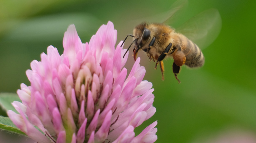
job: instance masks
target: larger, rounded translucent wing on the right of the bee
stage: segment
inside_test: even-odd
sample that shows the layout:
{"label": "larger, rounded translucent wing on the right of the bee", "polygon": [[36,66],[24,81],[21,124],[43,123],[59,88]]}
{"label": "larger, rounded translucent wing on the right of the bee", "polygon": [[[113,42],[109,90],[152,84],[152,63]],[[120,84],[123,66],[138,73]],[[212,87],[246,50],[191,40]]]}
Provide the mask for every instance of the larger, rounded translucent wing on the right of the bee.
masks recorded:
{"label": "larger, rounded translucent wing on the right of the bee", "polygon": [[176,29],[201,49],[209,46],[221,31],[222,20],[217,9],[208,9],[192,17]]}

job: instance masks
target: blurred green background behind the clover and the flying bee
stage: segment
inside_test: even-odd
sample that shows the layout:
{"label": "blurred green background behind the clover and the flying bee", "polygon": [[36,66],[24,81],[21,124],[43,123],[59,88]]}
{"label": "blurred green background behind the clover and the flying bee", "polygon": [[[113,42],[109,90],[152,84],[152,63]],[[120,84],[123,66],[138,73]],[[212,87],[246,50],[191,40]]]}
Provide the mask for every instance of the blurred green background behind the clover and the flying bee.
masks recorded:
{"label": "blurred green background behind the clover and the flying bee", "polygon": [[[0,92],[16,92],[21,83],[30,85],[25,71],[33,59],[40,60],[47,46],[63,52],[62,39],[68,25],[75,24],[82,42],[89,42],[102,24],[112,21],[117,43],[133,27],[151,16],[169,10],[175,0],[1,0],[0,2]],[[178,84],[171,59],[160,69],[139,52],[146,68],[145,80],[153,83],[156,114],[136,134],[158,120],[157,143],[205,142],[233,129],[256,136],[256,1],[190,0],[184,22],[209,8],[219,10],[222,30],[203,49],[205,65],[196,70],[182,67]],[[158,22],[155,19],[155,22]],[[127,47],[131,38],[126,42]],[[132,51],[132,50],[131,50]],[[131,52],[126,67],[134,60]],[[224,134],[224,133],[223,133]],[[200,140],[200,141],[198,141]],[[201,141],[203,140],[203,141]]]}

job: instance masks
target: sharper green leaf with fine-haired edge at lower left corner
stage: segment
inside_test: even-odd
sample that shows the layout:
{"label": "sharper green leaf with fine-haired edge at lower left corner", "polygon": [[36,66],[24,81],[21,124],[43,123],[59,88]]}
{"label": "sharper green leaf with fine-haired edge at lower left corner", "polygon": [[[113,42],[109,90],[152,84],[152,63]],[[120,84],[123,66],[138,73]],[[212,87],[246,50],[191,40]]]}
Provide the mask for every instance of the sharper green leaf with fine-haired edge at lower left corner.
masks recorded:
{"label": "sharper green leaf with fine-haired edge at lower left corner", "polygon": [[9,117],[0,116],[0,129],[7,130],[11,133],[26,135],[19,128],[17,128]]}

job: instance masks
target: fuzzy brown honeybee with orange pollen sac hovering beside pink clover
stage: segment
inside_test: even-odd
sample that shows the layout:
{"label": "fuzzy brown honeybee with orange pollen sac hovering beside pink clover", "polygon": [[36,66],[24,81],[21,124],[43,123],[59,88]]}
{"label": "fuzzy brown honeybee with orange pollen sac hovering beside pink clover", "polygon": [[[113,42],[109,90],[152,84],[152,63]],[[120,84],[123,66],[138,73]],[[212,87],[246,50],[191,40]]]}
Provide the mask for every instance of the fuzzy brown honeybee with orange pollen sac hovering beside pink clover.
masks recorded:
{"label": "fuzzy brown honeybee with orange pollen sac hovering beside pink clover", "polygon": [[[198,33],[193,33],[191,32],[193,31],[191,30],[191,27],[199,27],[203,29],[197,29],[195,32]],[[190,36],[191,39],[197,38],[196,41],[205,40],[205,37],[209,37],[209,34],[212,34],[214,35],[210,35],[210,38],[212,38],[210,41],[212,42],[219,34],[220,27],[221,18],[218,10],[209,9],[189,20],[186,24],[183,25],[182,28],[184,33],[187,32],[188,37]],[[215,28],[215,30],[212,28]],[[180,31],[182,31],[182,29]],[[167,24],[147,24],[146,22],[143,22],[142,24],[137,25],[133,30],[133,35],[128,34],[124,41],[128,36],[131,36],[134,39],[131,43],[131,45],[134,43],[134,60],[136,60],[139,50],[146,52],[149,60],[151,61],[153,59],[153,61],[156,62],[155,69],[157,69],[157,65],[160,63],[162,80],[164,80],[163,59],[165,57],[173,57],[174,62],[172,69],[174,76],[179,83],[180,80],[178,79],[177,74],[180,72],[180,67],[182,65],[186,65],[190,68],[196,68],[201,67],[204,64],[203,53],[197,44],[187,38],[185,34],[183,35],[179,32],[176,32],[174,28]]]}

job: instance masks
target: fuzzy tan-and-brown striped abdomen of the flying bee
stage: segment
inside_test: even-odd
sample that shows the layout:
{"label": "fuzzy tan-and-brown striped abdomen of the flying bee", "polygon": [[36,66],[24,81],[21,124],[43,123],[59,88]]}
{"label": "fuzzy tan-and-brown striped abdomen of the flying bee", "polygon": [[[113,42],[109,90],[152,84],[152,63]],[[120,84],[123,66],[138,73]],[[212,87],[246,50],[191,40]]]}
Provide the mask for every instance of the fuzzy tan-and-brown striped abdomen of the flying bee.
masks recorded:
{"label": "fuzzy tan-and-brown striped abdomen of the flying bee", "polygon": [[[186,42],[184,41],[186,39]],[[193,67],[201,67],[204,64],[204,56],[199,47],[187,38],[183,39],[182,52],[186,56],[185,65]]]}

